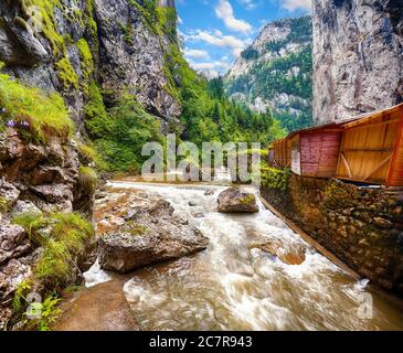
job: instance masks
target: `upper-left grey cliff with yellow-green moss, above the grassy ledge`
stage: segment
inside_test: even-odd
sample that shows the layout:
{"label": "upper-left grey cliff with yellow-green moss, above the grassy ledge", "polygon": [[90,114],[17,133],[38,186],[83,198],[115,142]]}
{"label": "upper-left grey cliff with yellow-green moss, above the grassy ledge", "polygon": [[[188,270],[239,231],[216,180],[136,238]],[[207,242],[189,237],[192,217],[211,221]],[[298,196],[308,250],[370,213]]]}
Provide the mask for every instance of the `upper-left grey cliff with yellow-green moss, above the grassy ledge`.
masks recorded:
{"label": "upper-left grey cliff with yellow-green moss, above the grassy ledge", "polygon": [[135,93],[149,113],[170,121],[180,115],[166,89],[165,50],[174,39],[148,21],[142,0],[4,0],[0,61],[22,82],[61,93],[79,129],[93,81],[108,96]]}

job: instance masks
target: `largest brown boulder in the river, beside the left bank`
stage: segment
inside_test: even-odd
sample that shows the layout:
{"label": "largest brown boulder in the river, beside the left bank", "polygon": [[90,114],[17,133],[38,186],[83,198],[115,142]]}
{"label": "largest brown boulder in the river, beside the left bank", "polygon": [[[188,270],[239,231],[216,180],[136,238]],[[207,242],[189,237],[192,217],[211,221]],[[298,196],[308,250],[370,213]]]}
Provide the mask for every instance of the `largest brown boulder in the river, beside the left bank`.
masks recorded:
{"label": "largest brown boulder in the river, beside the left bank", "polygon": [[205,249],[209,239],[173,212],[163,200],[130,210],[124,226],[100,238],[100,267],[125,274]]}

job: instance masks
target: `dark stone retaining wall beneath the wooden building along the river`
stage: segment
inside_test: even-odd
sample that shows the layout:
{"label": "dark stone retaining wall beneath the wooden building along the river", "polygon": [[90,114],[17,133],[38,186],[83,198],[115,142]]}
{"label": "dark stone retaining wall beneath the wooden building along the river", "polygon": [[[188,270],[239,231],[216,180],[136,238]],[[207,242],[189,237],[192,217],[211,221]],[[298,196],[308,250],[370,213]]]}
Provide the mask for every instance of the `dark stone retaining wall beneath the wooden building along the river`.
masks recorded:
{"label": "dark stone retaining wall beneath the wooden building along the river", "polygon": [[291,174],[262,195],[341,261],[403,296],[403,191]]}

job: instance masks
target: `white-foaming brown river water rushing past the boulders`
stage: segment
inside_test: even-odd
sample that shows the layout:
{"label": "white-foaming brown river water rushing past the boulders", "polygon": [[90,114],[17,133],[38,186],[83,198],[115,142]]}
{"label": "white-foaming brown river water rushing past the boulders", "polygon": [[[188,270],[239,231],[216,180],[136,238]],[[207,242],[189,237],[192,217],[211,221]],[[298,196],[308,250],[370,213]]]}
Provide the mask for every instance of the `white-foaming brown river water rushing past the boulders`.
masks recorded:
{"label": "white-foaming brown river water rushing past the boulders", "polygon": [[[126,281],[125,296],[142,330],[403,330],[397,301],[342,271],[262,203],[257,214],[227,215],[216,212],[224,186],[109,186],[166,199],[210,238],[205,252],[147,267]],[[208,190],[214,194],[205,195]],[[303,252],[305,260],[289,265],[254,248],[263,240],[276,244],[285,258]],[[108,275],[95,266],[86,278],[91,286]],[[363,307],[369,295],[372,319]]]}

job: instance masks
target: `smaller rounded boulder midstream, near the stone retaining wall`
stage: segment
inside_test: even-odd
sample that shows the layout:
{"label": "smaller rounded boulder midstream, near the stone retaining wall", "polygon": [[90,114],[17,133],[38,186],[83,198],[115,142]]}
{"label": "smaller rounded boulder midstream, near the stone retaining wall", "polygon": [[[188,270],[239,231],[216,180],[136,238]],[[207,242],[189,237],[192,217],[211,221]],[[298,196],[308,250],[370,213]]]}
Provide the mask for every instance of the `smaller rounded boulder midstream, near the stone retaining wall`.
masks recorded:
{"label": "smaller rounded boulder midstream, near the stone retaining wall", "polygon": [[256,213],[258,206],[254,194],[231,188],[223,191],[218,199],[220,213]]}

